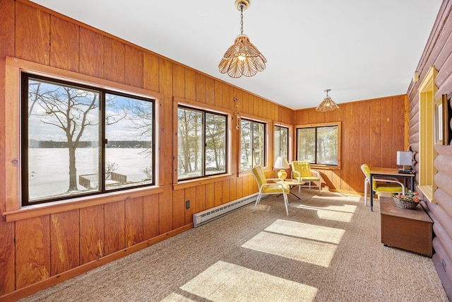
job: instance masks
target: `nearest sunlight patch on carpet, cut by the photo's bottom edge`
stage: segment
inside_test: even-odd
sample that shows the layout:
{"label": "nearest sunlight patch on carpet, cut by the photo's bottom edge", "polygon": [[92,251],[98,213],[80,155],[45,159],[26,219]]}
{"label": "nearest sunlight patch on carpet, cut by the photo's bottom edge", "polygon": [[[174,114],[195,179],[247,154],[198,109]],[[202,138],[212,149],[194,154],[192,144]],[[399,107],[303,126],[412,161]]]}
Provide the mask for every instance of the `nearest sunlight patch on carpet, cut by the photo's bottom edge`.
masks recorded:
{"label": "nearest sunlight patch on carpet, cut by the photo's bottom edge", "polygon": [[218,261],[180,287],[209,301],[313,301],[317,289]]}

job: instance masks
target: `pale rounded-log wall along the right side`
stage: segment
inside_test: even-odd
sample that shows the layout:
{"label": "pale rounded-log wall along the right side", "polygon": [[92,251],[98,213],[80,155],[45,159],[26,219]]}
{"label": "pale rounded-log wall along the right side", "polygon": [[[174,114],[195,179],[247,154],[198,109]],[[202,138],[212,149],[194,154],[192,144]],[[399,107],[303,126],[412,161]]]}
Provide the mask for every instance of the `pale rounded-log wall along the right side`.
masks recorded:
{"label": "pale rounded-log wall along the right side", "polygon": [[[410,144],[415,156],[413,167],[419,175],[420,161],[420,98],[417,89],[427,75],[429,69],[434,66],[438,71],[435,85],[438,91],[434,100],[441,100],[441,95],[452,95],[452,1],[444,0],[434,23],[427,45],[424,49],[416,71],[420,74],[420,80],[412,82],[408,88],[410,100]],[[451,101],[452,102],[452,101]],[[452,106],[452,103],[448,104]],[[449,121],[449,131],[452,131],[452,120]],[[452,300],[452,146],[451,141],[447,146],[434,146],[437,153],[434,165],[438,172],[434,175],[437,189],[434,192],[436,203],[425,202],[422,205],[427,209],[433,220],[434,240],[433,261],[436,271],[443,283],[448,298]],[[416,178],[419,182],[419,178]]]}

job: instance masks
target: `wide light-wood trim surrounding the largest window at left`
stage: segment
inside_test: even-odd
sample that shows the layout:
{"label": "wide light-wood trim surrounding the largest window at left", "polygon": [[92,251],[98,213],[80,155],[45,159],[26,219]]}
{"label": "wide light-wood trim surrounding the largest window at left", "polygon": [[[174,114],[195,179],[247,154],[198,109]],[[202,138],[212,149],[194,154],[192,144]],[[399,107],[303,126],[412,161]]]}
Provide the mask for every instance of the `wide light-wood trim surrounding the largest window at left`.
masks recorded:
{"label": "wide light-wood trim surrounding the largest window at left", "polygon": [[[88,86],[99,86],[107,88],[115,93],[130,93],[131,95],[142,96],[143,98],[152,98],[155,100],[155,129],[154,129],[154,149],[159,148],[160,135],[162,126],[159,120],[162,118],[162,111],[159,110],[160,103],[164,99],[162,93],[150,91],[145,88],[129,86],[123,83],[117,83],[95,76],[78,74],[75,71],[66,71],[56,67],[42,65],[40,63],[28,62],[23,59],[14,57],[6,57],[6,89],[5,89],[5,110],[8,115],[5,117],[5,124],[8,124],[8,132],[6,132],[5,146],[5,190],[6,190],[6,207],[3,215],[7,222],[28,219],[32,217],[42,216],[45,214],[54,214],[61,211],[68,211],[73,207],[90,207],[97,204],[106,204],[115,202],[121,198],[140,197],[143,194],[159,194],[164,188],[161,186],[160,174],[162,171],[158,166],[155,167],[154,185],[150,187],[130,188],[129,190],[119,192],[108,192],[106,194],[97,194],[89,197],[73,197],[57,202],[47,202],[43,204],[33,204],[32,206],[23,207],[21,203],[21,161],[20,161],[20,74],[27,72],[37,76],[47,76],[49,79],[61,79],[71,81],[78,84],[87,84]],[[159,162],[159,154],[155,152],[155,163]],[[113,195],[112,195],[113,194]],[[111,198],[115,196],[115,198]]]}

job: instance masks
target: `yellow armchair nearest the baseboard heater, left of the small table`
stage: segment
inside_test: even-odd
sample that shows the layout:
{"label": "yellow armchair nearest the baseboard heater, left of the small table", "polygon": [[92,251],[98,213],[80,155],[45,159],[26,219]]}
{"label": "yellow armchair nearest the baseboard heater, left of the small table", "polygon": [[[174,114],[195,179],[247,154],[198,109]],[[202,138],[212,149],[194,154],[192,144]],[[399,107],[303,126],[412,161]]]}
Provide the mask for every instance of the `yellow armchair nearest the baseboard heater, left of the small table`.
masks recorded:
{"label": "yellow armchair nearest the baseboard heater, left of the small table", "polygon": [[263,174],[261,166],[256,166],[251,169],[251,172],[253,173],[254,179],[257,182],[257,187],[259,190],[258,197],[256,199],[256,204],[254,204],[253,211],[256,210],[257,204],[261,201],[261,197],[263,194],[283,194],[284,197],[284,204],[285,204],[285,212],[287,216],[289,216],[289,209],[288,207],[288,199],[287,194],[290,192],[290,186],[285,184],[283,181],[281,182],[270,182],[268,183],[267,180],[281,180],[280,178],[266,178],[266,175]]}

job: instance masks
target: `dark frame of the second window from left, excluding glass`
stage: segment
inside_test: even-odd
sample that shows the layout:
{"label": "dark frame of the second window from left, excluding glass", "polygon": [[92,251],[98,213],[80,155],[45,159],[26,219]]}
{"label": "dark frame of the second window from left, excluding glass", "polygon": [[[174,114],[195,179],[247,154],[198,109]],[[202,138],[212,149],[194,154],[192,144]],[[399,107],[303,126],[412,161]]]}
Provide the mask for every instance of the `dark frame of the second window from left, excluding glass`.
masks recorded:
{"label": "dark frame of the second window from left, excluding glass", "polygon": [[[177,154],[177,171],[176,171],[176,179],[177,182],[184,182],[186,180],[198,180],[200,178],[209,178],[209,177],[215,177],[215,176],[222,176],[222,175],[226,175],[227,173],[229,173],[228,171],[230,170],[229,168],[229,163],[230,163],[230,154],[227,152],[230,148],[228,148],[230,146],[230,139],[229,139],[229,133],[230,133],[230,115],[227,114],[226,112],[220,112],[220,111],[215,111],[215,110],[208,110],[206,108],[199,108],[196,106],[190,106],[189,104],[184,104],[184,103],[178,103],[177,104],[177,109],[175,112],[176,117],[179,115],[179,108],[185,108],[186,110],[194,110],[194,111],[198,111],[198,112],[202,112],[203,113],[203,141],[202,141],[202,148],[203,148],[203,169],[202,169],[202,175],[198,175],[198,176],[194,176],[191,178],[180,178],[179,179],[179,140],[177,140],[177,148],[174,151]],[[212,173],[212,174],[206,174],[206,114],[211,114],[211,115],[219,115],[222,117],[225,117],[225,171],[224,172],[219,172],[219,173]],[[176,118],[176,128],[177,129],[177,133],[178,133],[178,137],[179,137],[179,119]]]}

